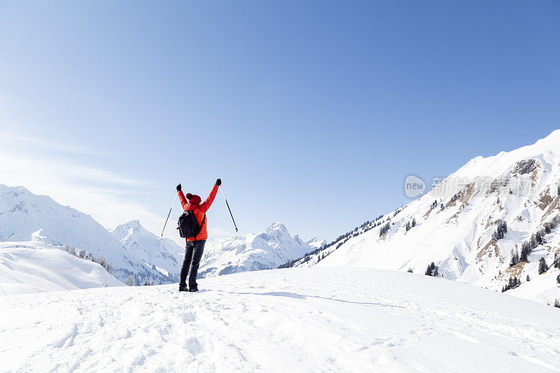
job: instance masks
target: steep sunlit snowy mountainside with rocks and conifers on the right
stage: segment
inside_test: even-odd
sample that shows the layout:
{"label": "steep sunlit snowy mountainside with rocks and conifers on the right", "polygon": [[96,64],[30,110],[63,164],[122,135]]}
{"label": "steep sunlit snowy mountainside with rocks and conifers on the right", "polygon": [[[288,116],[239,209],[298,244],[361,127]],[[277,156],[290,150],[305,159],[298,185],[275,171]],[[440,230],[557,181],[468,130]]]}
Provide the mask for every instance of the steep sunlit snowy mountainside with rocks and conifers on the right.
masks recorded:
{"label": "steep sunlit snowy mountainside with rocks and conifers on the right", "polygon": [[470,160],[426,195],[293,265],[423,274],[434,262],[446,279],[496,291],[521,281],[507,294],[552,304],[560,298],[560,263],[553,265],[560,255],[559,182],[557,130],[531,146]]}

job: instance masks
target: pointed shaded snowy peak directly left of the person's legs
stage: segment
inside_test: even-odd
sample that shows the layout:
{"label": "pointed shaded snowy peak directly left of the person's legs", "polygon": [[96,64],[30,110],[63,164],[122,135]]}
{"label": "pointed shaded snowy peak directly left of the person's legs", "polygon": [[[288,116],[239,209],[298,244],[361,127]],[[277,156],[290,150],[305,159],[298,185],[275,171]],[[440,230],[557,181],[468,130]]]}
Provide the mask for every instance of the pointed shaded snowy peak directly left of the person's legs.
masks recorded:
{"label": "pointed shaded snowy peak directly left of the person's legs", "polygon": [[128,252],[134,253],[148,265],[155,265],[160,271],[179,276],[183,263],[184,248],[171,239],[158,237],[140,225],[138,220],[132,220],[109,230],[119,244]]}

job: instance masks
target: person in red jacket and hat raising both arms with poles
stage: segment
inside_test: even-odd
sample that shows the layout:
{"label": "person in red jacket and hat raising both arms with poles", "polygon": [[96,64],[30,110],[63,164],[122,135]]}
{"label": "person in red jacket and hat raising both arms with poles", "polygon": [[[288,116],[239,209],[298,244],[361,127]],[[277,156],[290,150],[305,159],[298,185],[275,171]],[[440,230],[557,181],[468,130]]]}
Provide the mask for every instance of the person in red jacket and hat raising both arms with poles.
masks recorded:
{"label": "person in red jacket and hat raising both arms with poles", "polygon": [[[185,260],[183,260],[183,267],[181,268],[181,277],[179,282],[179,291],[198,291],[197,284],[197,273],[198,267],[200,265],[200,258],[202,258],[202,253],[204,252],[204,244],[208,238],[207,226],[208,220],[206,218],[206,213],[214,198],[216,198],[216,193],[218,188],[222,184],[221,179],[216,180],[216,184],[210,191],[210,195],[207,199],[201,202],[201,199],[197,195],[187,193],[187,196],[183,195],[181,191],[181,184],[177,185],[177,194],[179,194],[179,200],[181,201],[181,206],[185,211],[193,211],[195,218],[197,218],[198,225],[200,226],[200,233],[197,237],[189,237],[187,239],[187,244],[185,247]],[[188,274],[188,288],[187,288],[187,274]]]}

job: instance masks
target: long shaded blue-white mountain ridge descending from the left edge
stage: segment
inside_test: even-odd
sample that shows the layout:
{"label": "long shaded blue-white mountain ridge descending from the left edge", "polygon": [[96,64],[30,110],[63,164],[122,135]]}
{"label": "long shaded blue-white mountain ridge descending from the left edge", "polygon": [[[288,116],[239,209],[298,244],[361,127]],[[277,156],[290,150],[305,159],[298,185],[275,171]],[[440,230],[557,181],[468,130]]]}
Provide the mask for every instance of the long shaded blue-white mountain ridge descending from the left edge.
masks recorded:
{"label": "long shaded blue-white mountain ridge descending from the left edge", "polygon": [[146,265],[134,251],[127,251],[91,216],[24,187],[0,184],[0,241],[29,240],[74,246],[96,258],[104,256],[113,266],[113,276],[123,282],[130,274],[137,283],[146,276],[156,283],[174,281],[154,270],[151,263]]}

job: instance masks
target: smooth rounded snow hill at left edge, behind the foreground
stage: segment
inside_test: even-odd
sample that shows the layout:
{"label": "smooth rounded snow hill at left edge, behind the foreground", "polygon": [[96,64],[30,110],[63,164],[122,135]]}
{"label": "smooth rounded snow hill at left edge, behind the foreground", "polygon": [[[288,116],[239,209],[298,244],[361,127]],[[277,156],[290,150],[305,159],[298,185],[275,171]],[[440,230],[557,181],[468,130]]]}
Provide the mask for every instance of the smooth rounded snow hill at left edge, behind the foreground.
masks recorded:
{"label": "smooth rounded snow hill at left edge, behind the foreground", "polygon": [[0,243],[0,295],[123,285],[101,265],[49,244]]}

